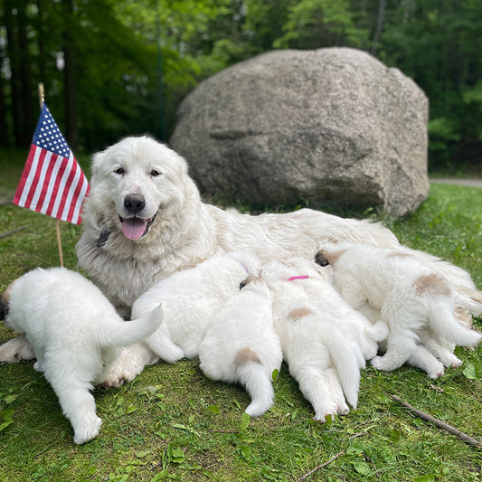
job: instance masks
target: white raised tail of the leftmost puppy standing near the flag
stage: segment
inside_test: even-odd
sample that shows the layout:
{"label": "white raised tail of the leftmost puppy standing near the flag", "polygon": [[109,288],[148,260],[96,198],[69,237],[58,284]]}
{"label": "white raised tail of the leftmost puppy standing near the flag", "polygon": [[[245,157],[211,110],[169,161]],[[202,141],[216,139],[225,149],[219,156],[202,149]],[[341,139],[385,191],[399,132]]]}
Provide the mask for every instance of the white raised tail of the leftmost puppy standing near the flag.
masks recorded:
{"label": "white raised tail of the leftmost puppy standing near the flag", "polygon": [[110,330],[106,345],[128,346],[144,341],[147,336],[152,335],[159,328],[162,318],[162,307],[158,305],[142,317],[116,323],[115,329]]}

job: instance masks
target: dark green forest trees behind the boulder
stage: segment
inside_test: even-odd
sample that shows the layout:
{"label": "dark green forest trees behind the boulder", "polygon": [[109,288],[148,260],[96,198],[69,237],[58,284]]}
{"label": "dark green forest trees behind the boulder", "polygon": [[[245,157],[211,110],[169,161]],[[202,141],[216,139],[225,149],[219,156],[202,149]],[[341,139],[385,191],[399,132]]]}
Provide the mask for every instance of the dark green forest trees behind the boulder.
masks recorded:
{"label": "dark green forest trees behind the boulder", "polygon": [[430,99],[430,170],[482,172],[480,0],[1,0],[0,146],[30,145],[37,84],[74,152],[167,141],[179,102],[272,49],[349,46]]}

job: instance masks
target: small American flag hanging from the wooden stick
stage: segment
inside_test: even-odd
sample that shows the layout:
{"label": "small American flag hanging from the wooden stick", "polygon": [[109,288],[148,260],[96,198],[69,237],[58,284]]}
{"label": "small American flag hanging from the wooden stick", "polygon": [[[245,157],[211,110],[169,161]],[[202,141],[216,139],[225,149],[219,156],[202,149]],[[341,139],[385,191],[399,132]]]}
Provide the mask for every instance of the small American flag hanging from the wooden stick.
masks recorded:
{"label": "small American flag hanging from the wooden stick", "polygon": [[43,104],[14,204],[80,224],[82,202],[88,194],[87,178]]}

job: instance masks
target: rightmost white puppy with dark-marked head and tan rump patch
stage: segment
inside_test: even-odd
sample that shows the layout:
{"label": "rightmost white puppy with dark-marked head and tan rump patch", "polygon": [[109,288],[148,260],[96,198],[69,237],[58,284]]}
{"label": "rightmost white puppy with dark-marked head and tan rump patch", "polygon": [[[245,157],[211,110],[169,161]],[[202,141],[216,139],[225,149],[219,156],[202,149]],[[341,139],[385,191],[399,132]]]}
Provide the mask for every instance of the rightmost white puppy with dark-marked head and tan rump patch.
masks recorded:
{"label": "rightmost white puppy with dark-marked head and tan rump patch", "polygon": [[324,245],[316,259],[333,267],[335,286],[352,307],[379,310],[388,324],[386,353],[372,360],[379,370],[408,362],[437,378],[443,364],[430,349],[439,353],[443,346],[473,345],[482,337],[458,321],[449,283],[418,257],[339,242]]}

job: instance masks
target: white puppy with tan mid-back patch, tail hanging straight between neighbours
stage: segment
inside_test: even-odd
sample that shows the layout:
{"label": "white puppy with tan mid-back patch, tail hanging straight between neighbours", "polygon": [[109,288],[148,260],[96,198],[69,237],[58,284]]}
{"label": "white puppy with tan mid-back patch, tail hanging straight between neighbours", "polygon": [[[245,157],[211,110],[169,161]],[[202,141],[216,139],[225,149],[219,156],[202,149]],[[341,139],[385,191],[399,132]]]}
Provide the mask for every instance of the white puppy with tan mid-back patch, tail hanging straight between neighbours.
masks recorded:
{"label": "white puppy with tan mid-back patch, tail hanging straight between neighbours", "polygon": [[272,290],[274,326],[289,373],[315,409],[314,420],[323,422],[330,414],[349,411],[345,397],[356,406],[364,356],[345,338],[339,327],[342,319],[332,318],[331,310],[320,310],[298,275],[289,261],[269,261],[262,270]]}

